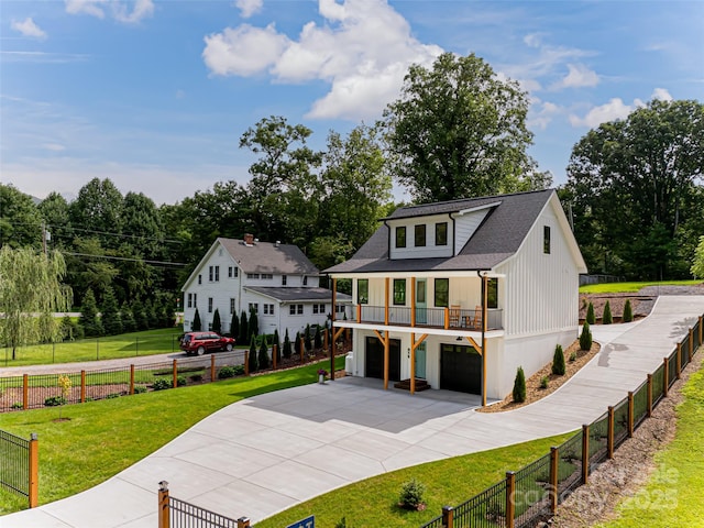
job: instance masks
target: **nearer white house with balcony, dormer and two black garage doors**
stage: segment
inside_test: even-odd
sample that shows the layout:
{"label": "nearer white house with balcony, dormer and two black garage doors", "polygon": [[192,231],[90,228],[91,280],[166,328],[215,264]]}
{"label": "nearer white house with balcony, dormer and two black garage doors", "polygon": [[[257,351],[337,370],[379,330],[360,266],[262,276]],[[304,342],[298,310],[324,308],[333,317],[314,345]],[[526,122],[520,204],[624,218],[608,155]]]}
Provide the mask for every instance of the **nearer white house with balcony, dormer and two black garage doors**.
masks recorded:
{"label": "nearer white house with balcony, dormer and two black garage doors", "polygon": [[586,266],[554,190],[397,209],[326,273],[353,282],[353,374],[501,399],[579,333]]}

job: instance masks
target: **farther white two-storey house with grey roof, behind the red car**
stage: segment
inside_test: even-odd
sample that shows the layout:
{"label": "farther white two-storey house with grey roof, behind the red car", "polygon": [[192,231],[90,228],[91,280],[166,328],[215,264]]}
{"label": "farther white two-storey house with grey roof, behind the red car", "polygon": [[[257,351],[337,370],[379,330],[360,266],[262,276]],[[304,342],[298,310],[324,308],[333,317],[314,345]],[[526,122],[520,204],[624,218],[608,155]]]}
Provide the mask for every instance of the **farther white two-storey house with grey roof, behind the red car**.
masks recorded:
{"label": "farther white two-storey house with grey roof, behind the red car", "polygon": [[[286,329],[294,339],[307,324],[328,322],[332,292],[319,286],[320,272],[296,245],[217,239],[184,284],[184,330],[191,330],[196,308],[201,327],[212,324],[219,310],[223,332],[231,332],[232,314],[255,311],[260,333]],[[351,297],[338,294],[337,318],[344,318]],[[231,332],[231,333],[237,333]]]}

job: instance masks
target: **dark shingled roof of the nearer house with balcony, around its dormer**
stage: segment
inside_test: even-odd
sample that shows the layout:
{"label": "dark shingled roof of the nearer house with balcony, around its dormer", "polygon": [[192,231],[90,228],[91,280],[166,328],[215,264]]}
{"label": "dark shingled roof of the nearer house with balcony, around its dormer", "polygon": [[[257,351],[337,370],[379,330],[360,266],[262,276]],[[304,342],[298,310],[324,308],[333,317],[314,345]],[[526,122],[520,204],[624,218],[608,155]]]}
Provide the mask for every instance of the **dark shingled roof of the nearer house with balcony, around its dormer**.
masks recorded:
{"label": "dark shingled roof of the nearer house with balcony, around its dormer", "polygon": [[352,258],[324,272],[336,274],[491,270],[518,251],[553,193],[552,189],[536,190],[402,207],[384,220],[446,215],[501,202],[492,208],[457,256],[392,261],[388,258],[388,228],[384,224]]}

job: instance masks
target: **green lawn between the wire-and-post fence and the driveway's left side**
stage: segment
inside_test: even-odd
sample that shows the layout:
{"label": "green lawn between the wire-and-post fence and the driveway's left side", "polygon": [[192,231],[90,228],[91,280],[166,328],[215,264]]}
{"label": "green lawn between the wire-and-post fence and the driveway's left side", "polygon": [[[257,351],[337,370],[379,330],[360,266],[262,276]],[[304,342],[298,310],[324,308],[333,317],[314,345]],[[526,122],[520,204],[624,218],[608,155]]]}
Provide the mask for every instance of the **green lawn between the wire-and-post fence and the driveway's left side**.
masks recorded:
{"label": "green lawn between the wire-and-post fence and the driveway's left side", "polygon": [[[336,360],[344,367],[344,358]],[[2,415],[13,435],[40,438],[40,504],[88,490],[169,442],[216,410],[243,398],[317,381],[319,364],[261,376]],[[155,475],[158,482],[158,475]],[[0,514],[25,501],[0,493]]]}

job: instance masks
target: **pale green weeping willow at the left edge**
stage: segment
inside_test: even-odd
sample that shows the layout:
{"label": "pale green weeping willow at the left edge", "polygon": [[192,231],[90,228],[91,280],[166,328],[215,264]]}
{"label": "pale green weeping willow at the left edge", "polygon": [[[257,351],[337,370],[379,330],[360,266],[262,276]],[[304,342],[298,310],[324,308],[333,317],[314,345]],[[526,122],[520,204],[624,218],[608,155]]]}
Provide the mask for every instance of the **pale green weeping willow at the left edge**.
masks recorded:
{"label": "pale green weeping willow at the left edge", "polygon": [[70,288],[62,283],[66,264],[61,253],[37,253],[31,248],[0,249],[0,342],[12,349],[42,341],[61,341],[62,320]]}

